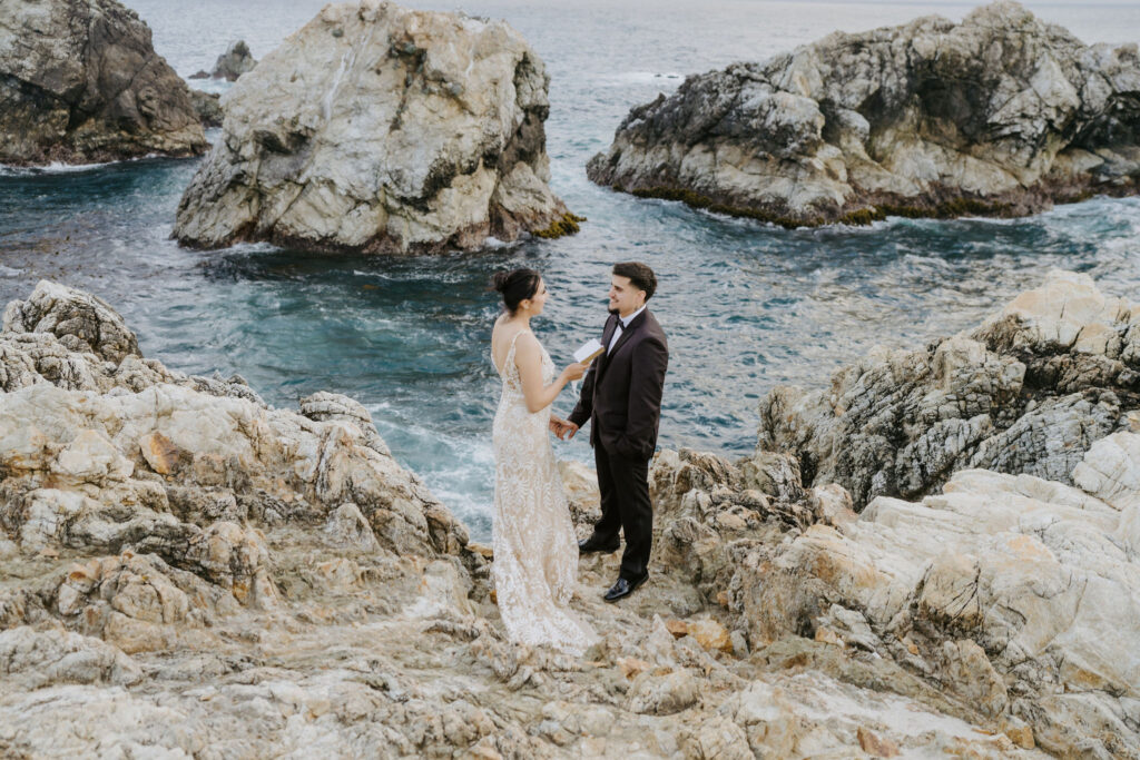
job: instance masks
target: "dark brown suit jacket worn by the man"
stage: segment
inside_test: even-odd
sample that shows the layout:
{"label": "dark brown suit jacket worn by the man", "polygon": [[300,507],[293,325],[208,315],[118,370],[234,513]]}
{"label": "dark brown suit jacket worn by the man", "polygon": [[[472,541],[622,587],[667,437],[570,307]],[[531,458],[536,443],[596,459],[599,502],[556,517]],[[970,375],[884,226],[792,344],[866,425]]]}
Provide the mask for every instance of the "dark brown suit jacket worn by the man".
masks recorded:
{"label": "dark brown suit jacket worn by the man", "polygon": [[[602,332],[609,346],[620,319],[611,314]],[[669,367],[665,330],[649,309],[629,322],[614,344],[591,365],[581,398],[570,412],[578,427],[592,423],[589,442],[629,459],[648,461],[657,448],[661,392]]]}

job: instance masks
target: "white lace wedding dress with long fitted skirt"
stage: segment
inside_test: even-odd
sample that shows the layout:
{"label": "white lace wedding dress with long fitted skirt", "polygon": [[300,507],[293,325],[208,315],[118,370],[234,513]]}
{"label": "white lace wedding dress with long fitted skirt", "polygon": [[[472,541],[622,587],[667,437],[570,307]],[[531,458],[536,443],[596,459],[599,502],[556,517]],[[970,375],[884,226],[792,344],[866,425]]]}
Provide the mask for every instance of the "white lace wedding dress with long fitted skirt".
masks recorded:
{"label": "white lace wedding dress with long fitted skirt", "polygon": [[[597,635],[569,607],[578,573],[578,541],[551,449],[549,408],[531,414],[522,395],[514,365],[519,335],[511,340],[503,368],[496,367],[503,397],[492,435],[495,594],[511,640],[580,654]],[[543,349],[543,383],[552,379],[554,362]]]}

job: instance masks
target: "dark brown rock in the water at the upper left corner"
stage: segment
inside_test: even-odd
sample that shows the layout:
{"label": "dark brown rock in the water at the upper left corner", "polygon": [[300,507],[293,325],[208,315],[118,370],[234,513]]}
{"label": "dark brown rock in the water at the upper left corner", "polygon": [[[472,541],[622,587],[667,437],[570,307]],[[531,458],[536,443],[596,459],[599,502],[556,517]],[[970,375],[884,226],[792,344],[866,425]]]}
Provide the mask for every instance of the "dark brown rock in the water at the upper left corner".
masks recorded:
{"label": "dark brown rock in the water at the upper left corner", "polygon": [[206,148],[186,83],[114,0],[0,6],[0,163],[91,163]]}

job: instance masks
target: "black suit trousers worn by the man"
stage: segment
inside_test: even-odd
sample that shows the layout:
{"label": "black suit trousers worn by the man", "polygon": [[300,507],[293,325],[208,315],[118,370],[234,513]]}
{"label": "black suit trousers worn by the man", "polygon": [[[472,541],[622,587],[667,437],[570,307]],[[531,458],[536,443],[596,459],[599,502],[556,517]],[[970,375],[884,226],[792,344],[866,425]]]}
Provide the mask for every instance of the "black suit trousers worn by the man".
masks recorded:
{"label": "black suit trousers worn by the man", "polygon": [[626,537],[619,577],[637,580],[649,571],[653,546],[653,504],[649,498],[649,460],[629,459],[608,451],[601,441],[594,447],[597,485],[602,492],[602,518],[594,524],[594,541],[602,546]]}

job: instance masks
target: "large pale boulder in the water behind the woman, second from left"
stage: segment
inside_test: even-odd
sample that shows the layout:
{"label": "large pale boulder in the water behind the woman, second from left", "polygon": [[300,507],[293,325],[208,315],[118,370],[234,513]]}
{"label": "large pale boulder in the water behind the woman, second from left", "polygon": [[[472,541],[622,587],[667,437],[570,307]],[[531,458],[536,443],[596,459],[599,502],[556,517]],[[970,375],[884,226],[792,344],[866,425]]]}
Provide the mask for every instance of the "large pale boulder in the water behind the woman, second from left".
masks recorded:
{"label": "large pale boulder in the water behind the woman, second from left", "polygon": [[548,76],[503,22],[331,5],[234,85],[174,237],[437,252],[551,236]]}

